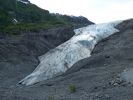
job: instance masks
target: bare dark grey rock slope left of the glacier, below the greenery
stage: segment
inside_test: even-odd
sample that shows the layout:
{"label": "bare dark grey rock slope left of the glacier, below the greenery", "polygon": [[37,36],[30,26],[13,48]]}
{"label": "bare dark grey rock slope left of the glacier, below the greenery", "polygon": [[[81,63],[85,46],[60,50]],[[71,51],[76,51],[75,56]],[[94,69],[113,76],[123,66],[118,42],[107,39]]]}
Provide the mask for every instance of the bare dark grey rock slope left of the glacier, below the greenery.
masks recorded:
{"label": "bare dark grey rock slope left of the glacier, below the greenery", "polygon": [[38,56],[70,39],[75,34],[73,30],[73,27],[59,27],[16,36],[0,33],[0,99],[24,99],[4,94],[36,68]]}

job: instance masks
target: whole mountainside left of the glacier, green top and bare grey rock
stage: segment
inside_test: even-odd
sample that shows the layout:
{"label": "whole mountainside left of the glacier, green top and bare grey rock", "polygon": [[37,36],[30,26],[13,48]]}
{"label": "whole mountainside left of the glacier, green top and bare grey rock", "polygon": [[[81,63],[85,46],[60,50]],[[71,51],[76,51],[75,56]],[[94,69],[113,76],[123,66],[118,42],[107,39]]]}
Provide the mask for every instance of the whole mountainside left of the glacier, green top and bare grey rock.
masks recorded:
{"label": "whole mountainside left of the glacier, green top and bare grey rock", "polygon": [[1,0],[0,100],[29,100],[8,93],[35,69],[38,56],[70,39],[75,28],[90,24],[81,16],[51,14],[27,0]]}

